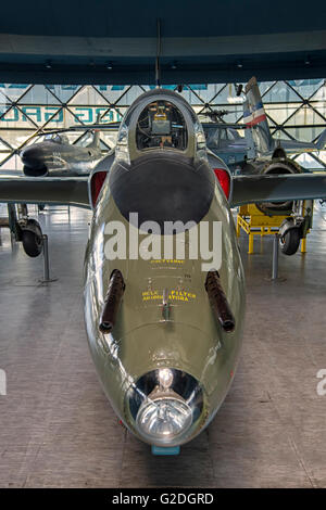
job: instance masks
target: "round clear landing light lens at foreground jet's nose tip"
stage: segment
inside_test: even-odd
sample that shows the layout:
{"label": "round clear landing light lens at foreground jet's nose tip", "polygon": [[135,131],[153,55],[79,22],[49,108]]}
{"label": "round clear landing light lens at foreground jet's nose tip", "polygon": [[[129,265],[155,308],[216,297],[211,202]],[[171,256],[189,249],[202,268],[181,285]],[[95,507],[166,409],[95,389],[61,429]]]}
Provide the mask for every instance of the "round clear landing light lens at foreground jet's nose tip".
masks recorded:
{"label": "round clear landing light lens at foreground jet's nose tip", "polygon": [[159,444],[170,443],[184,434],[192,423],[188,404],[174,397],[148,399],[137,413],[139,432]]}

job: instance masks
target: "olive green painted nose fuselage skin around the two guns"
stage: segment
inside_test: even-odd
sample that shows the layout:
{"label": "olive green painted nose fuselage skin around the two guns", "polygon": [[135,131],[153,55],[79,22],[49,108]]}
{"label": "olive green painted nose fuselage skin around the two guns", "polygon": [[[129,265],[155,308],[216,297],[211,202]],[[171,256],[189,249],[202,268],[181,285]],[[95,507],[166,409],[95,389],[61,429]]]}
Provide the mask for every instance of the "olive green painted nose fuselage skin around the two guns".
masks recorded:
{"label": "olive green painted nose fuselage skin around the two guns", "polygon": [[[206,273],[202,271],[200,259],[164,259],[163,254],[161,258],[149,260],[128,256],[126,259],[108,259],[104,230],[110,221],[120,221],[128,232],[129,222],[121,214],[106,179],[93,214],[85,260],[85,320],[99,379],[115,412],[134,434],[139,435],[126,405],[130,385],[160,367],[188,372],[199,381],[204,395],[202,417],[193,437],[223,403],[241,347],[243,269],[227,201],[215,183],[211,206],[202,221],[222,222],[218,273],[236,318],[231,333],[224,332],[213,316],[204,288]],[[189,233],[186,244],[187,235]],[[110,334],[102,334],[99,322],[114,269],[122,272],[126,288],[115,327]],[[164,295],[168,299],[167,318],[162,311]]]}

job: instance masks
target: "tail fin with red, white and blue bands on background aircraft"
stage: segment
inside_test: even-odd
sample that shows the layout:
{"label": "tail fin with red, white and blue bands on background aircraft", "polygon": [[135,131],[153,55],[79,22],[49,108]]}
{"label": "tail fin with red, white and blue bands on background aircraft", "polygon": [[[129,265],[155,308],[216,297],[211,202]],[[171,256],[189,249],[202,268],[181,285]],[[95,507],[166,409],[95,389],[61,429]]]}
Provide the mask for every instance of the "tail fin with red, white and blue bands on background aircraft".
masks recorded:
{"label": "tail fin with red, white and blue bands on background aircraft", "polygon": [[255,141],[259,152],[271,152],[274,140],[271,135],[261,92],[253,76],[246,85],[246,101],[243,102],[243,122],[250,128],[255,128]]}

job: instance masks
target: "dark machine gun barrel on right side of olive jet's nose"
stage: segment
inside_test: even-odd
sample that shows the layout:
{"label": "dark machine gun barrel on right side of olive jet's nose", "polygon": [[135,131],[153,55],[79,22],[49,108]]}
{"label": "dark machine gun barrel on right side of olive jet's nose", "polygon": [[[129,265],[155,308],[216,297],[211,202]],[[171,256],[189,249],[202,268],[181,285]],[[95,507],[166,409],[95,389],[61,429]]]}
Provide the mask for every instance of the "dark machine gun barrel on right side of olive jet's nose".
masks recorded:
{"label": "dark machine gun barrel on right side of olive jet's nose", "polygon": [[213,308],[213,313],[224,331],[230,333],[236,326],[235,317],[230,310],[226,295],[221,285],[221,280],[217,271],[209,271],[205,290]]}

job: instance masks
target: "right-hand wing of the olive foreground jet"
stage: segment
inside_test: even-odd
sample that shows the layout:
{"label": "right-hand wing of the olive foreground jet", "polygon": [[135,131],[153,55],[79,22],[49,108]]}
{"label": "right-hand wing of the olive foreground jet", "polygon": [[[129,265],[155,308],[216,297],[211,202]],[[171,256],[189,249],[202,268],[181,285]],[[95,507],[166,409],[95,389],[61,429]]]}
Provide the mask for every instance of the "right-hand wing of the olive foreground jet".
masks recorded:
{"label": "right-hand wing of the olive foreground jet", "polygon": [[326,199],[326,174],[233,177],[230,205]]}

